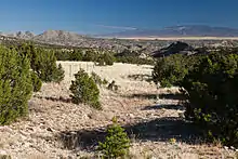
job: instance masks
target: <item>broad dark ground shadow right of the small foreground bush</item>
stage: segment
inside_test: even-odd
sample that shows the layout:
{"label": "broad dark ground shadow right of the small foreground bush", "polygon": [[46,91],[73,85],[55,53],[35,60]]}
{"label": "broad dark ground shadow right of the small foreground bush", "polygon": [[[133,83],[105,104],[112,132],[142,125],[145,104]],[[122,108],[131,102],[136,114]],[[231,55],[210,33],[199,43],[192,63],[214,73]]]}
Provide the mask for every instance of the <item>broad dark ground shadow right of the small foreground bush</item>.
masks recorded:
{"label": "broad dark ground shadow right of the small foreground bush", "polygon": [[191,122],[178,117],[164,117],[125,125],[125,130],[130,136],[151,142],[168,142],[175,138],[177,142],[199,144],[202,136],[202,133]]}

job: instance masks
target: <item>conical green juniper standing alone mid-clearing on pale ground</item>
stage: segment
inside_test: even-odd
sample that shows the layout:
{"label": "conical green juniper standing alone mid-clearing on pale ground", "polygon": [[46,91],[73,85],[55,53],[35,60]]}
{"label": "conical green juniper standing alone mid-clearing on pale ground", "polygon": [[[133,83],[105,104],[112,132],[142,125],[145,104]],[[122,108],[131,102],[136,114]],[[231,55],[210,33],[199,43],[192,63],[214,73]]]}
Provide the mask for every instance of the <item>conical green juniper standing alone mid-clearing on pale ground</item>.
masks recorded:
{"label": "conical green juniper standing alone mid-clearing on pale ground", "polygon": [[71,81],[69,88],[72,103],[89,104],[93,108],[102,109],[100,98],[100,90],[93,80],[83,69],[75,75],[75,81]]}

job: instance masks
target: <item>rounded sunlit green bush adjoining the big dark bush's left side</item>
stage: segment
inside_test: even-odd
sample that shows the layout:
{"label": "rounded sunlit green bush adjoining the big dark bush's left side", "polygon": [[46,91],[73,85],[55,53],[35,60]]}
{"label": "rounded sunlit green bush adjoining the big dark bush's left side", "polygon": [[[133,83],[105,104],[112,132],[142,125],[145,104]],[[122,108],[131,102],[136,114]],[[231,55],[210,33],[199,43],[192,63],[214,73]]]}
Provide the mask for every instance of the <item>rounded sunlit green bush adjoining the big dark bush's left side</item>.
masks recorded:
{"label": "rounded sunlit green bush adjoining the big dark bush's left side", "polygon": [[174,54],[158,59],[153,70],[153,80],[161,87],[178,85],[188,72],[187,56]]}

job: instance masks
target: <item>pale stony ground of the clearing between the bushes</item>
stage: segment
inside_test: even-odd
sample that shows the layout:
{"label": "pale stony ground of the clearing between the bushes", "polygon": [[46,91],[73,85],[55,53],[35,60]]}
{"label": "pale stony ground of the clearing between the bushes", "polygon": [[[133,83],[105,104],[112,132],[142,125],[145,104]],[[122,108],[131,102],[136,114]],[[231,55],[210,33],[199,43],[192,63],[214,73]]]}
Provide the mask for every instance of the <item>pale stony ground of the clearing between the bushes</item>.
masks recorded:
{"label": "pale stony ground of the clearing between the bushes", "polygon": [[154,83],[128,78],[150,75],[150,67],[116,64],[95,67],[94,71],[120,87],[118,92],[101,88],[104,110],[68,103],[69,79],[43,84],[29,101],[27,119],[0,127],[0,154],[13,159],[92,158],[97,141],[116,116],[132,138],[130,154],[134,159],[235,158],[234,150],[202,144],[180,117],[184,108],[177,100],[171,96],[155,103],[155,94],[176,92],[176,88],[157,91]]}

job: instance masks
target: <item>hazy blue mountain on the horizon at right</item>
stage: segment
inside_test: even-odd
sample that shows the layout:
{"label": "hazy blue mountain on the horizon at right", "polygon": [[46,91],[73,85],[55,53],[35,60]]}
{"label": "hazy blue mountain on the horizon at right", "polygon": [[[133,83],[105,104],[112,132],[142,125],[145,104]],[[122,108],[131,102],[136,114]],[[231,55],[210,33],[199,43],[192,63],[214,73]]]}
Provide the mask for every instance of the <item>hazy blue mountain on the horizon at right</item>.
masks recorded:
{"label": "hazy blue mountain on the horizon at right", "polygon": [[172,26],[162,29],[134,29],[108,35],[102,38],[133,38],[133,37],[238,37],[238,29],[228,27],[211,27],[204,25]]}

